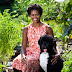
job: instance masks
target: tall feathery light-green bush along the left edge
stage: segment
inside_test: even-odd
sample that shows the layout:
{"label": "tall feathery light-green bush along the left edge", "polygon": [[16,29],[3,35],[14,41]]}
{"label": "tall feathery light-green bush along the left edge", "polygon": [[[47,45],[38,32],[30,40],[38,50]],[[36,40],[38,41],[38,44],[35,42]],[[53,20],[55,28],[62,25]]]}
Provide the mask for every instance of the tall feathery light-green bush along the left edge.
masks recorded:
{"label": "tall feathery light-green bush along the left edge", "polygon": [[9,58],[14,55],[14,48],[20,40],[20,22],[12,18],[5,10],[0,13],[0,63],[6,64]]}

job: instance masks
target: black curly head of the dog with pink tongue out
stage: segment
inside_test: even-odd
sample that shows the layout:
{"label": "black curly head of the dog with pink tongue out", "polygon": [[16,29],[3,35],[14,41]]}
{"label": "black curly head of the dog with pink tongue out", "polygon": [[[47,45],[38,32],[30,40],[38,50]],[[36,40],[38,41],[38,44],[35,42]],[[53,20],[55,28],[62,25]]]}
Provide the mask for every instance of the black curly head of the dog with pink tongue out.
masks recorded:
{"label": "black curly head of the dog with pink tongue out", "polygon": [[51,52],[54,46],[54,39],[49,35],[43,35],[40,37],[38,44],[40,45],[41,52]]}

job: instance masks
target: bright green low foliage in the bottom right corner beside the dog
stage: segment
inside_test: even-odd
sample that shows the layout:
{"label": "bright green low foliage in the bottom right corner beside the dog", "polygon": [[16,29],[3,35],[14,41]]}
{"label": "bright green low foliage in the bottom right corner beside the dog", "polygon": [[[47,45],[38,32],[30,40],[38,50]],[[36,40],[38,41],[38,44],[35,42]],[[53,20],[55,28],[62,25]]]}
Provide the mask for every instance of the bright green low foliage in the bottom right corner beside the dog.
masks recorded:
{"label": "bright green low foliage in the bottom right corner beside the dog", "polygon": [[65,52],[62,57],[65,60],[62,72],[72,72],[72,51]]}

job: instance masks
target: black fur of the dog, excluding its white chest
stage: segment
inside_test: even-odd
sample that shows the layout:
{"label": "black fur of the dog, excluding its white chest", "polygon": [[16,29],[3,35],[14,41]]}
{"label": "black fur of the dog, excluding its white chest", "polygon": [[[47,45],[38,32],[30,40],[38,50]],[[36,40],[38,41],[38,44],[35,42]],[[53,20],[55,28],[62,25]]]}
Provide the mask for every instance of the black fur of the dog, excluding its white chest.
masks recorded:
{"label": "black fur of the dog, excluding its white chest", "polygon": [[[43,52],[43,49],[47,49],[47,52],[49,54],[49,60],[47,64],[47,72],[61,72],[63,68],[63,60],[60,58],[56,64],[52,64],[51,60],[53,59],[53,55],[57,54],[54,47],[54,39],[53,37],[49,35],[43,35],[40,37],[38,44],[40,45],[41,52]],[[44,72],[42,68],[40,67],[40,72]]]}

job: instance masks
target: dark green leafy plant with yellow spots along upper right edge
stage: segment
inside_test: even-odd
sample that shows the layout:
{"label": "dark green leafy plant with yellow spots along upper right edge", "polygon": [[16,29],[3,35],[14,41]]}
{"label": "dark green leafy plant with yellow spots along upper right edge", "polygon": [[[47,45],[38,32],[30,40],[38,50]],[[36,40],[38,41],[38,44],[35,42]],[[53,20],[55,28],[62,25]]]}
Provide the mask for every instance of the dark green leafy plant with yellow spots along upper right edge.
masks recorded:
{"label": "dark green leafy plant with yellow spots along upper right edge", "polygon": [[[57,22],[62,24],[63,26],[60,27],[62,28],[61,34],[59,39],[61,39],[64,44],[67,44],[68,47],[68,41],[70,36],[72,35],[72,10],[71,10],[72,2],[71,0],[65,0],[63,3],[59,4],[59,14],[57,16]],[[63,44],[63,46],[64,46]],[[66,48],[67,48],[66,47]]]}

